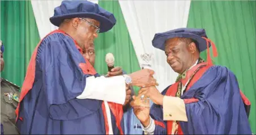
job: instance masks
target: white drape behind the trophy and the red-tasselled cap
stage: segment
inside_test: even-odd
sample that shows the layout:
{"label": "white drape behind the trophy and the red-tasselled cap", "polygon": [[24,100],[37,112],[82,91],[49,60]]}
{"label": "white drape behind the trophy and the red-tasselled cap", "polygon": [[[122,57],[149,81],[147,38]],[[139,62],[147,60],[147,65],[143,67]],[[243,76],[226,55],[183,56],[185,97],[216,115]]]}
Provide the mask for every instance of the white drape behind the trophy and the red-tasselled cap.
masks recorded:
{"label": "white drape behind the trophy and the red-tasselled cap", "polygon": [[138,61],[140,55],[153,53],[152,68],[159,83],[159,91],[175,82],[175,73],[166,62],[163,51],[152,46],[155,33],[185,28],[188,21],[190,1],[119,1],[125,23],[131,37]]}

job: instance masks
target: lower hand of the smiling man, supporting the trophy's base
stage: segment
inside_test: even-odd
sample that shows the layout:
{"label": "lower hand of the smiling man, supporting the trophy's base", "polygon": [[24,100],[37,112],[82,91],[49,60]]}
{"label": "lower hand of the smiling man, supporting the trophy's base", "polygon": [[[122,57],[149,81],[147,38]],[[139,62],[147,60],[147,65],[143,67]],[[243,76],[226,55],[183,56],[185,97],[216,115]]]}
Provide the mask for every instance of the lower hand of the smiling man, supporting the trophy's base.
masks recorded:
{"label": "lower hand of the smiling man, supporting the trophy's base", "polygon": [[[135,96],[133,96],[132,98],[135,100]],[[149,126],[149,124],[150,124],[150,116],[149,116],[150,107],[137,106],[134,104],[134,100],[131,102],[131,106],[133,107],[133,113],[136,115],[138,120],[140,120],[141,124],[144,127]]]}

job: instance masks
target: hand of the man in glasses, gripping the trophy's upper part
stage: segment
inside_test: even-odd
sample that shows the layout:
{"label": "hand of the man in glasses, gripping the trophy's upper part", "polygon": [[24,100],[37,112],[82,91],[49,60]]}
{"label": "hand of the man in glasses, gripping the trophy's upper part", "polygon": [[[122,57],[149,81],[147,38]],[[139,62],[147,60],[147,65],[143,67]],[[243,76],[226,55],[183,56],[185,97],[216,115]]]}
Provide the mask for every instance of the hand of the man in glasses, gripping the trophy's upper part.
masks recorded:
{"label": "hand of the man in glasses, gripping the trophy's upper part", "polygon": [[132,86],[158,86],[157,80],[154,79],[153,74],[154,71],[150,69],[142,69],[129,74],[132,78]]}

